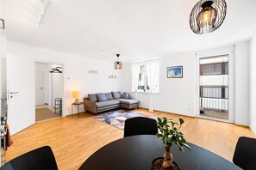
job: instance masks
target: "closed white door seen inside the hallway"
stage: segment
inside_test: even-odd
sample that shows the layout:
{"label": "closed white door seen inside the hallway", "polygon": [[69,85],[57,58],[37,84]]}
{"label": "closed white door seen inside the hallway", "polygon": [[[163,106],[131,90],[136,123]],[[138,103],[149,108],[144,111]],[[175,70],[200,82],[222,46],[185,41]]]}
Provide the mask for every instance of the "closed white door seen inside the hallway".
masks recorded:
{"label": "closed white door seen inside the hallway", "polygon": [[35,105],[45,104],[45,73],[41,70],[35,71]]}

